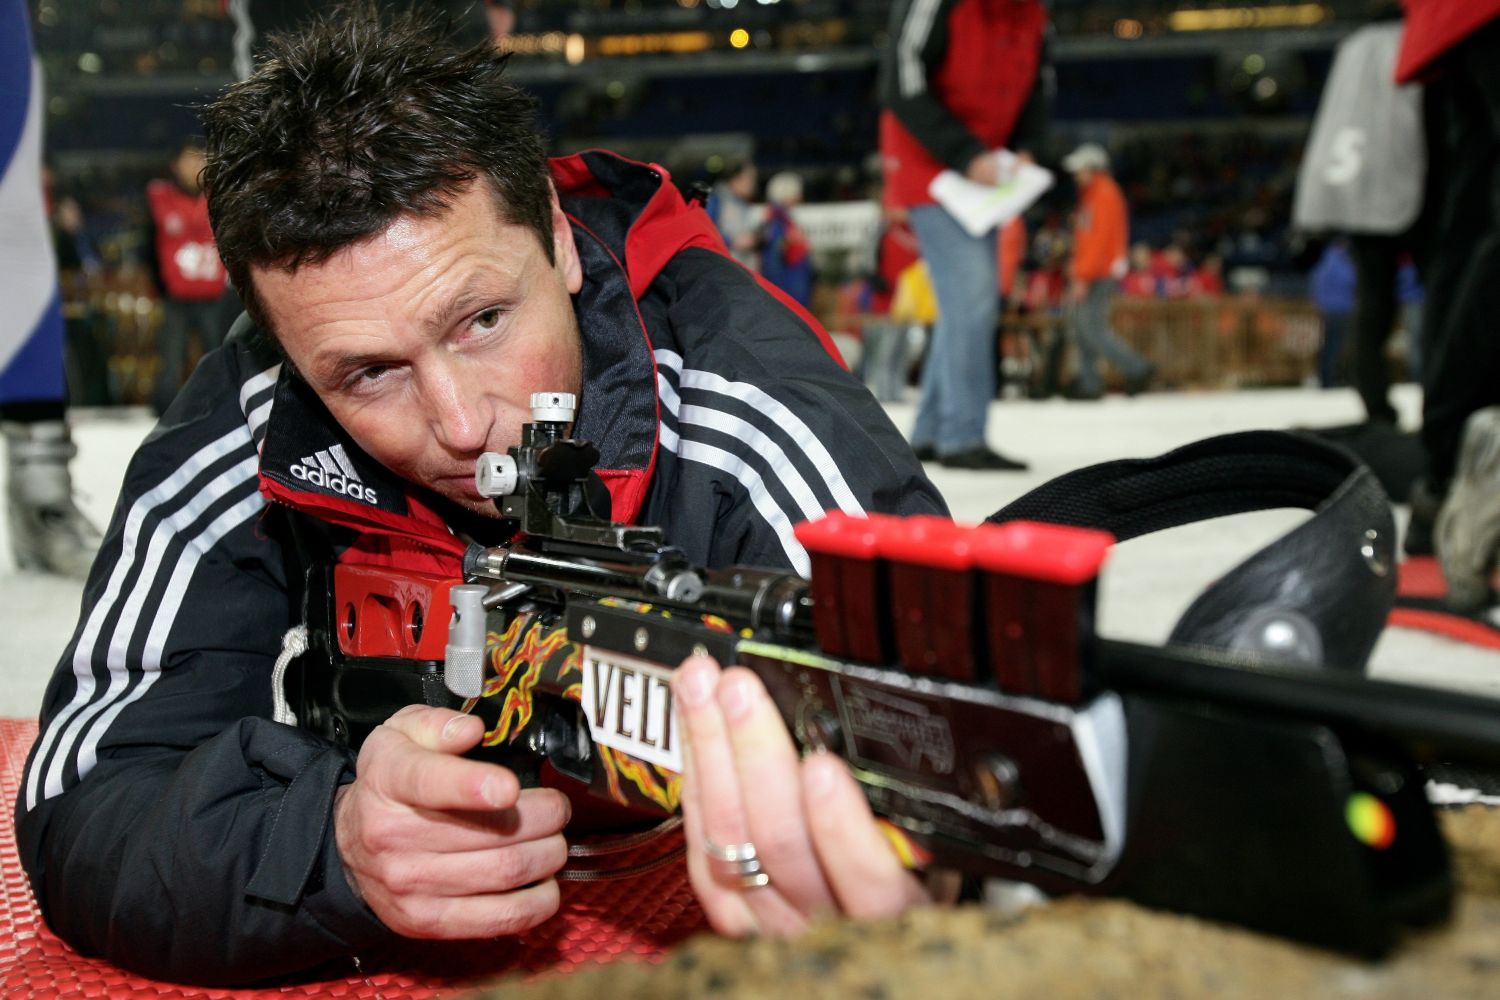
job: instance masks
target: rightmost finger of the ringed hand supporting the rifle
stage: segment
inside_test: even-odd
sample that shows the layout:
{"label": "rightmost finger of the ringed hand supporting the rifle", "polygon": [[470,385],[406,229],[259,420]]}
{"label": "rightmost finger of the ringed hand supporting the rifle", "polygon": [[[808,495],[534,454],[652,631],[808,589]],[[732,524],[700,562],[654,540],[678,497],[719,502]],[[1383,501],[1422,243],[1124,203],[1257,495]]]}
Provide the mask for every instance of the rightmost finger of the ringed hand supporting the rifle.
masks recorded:
{"label": "rightmost finger of the ringed hand supporting the rifle", "polygon": [[842,760],[818,753],[802,762],[802,795],[813,846],[844,913],[882,918],[930,901],[876,826]]}

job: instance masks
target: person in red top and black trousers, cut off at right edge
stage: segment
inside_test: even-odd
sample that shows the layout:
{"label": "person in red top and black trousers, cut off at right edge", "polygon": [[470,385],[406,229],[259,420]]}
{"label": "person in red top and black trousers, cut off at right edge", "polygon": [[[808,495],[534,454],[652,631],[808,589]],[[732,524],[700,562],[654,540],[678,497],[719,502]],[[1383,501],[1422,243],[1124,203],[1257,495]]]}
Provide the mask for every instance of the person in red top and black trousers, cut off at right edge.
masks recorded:
{"label": "person in red top and black trousers, cut off at right edge", "polygon": [[[1406,0],[1396,82],[1428,88],[1428,133],[1434,136],[1428,190],[1434,208],[1432,250],[1424,316],[1422,444],[1425,480],[1412,492],[1406,550],[1436,552],[1449,597],[1479,606],[1492,600],[1488,570],[1500,558],[1500,442],[1473,445],[1466,426],[1500,405],[1500,0]],[[1500,415],[1500,414],[1492,414]],[[1485,468],[1460,462],[1490,456]],[[1456,486],[1470,480],[1473,489]],[[1460,502],[1460,495],[1476,502]],[[1436,534],[1434,534],[1436,532]]]}

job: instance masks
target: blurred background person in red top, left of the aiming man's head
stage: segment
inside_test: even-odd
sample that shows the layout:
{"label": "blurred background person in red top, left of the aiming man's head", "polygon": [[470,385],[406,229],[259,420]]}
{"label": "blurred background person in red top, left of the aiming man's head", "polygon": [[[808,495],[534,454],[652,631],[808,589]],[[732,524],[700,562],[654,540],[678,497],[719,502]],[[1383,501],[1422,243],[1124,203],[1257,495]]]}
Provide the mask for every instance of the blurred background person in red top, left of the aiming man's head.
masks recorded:
{"label": "blurred background person in red top, left of the aiming man's head", "polygon": [[198,180],[202,163],[202,142],[188,139],[172,156],[171,177],[146,186],[152,213],[152,271],[162,301],[152,393],[158,415],[166,412],[182,388],[189,339],[196,336],[207,354],[219,346],[238,313],[208,225],[208,201]]}

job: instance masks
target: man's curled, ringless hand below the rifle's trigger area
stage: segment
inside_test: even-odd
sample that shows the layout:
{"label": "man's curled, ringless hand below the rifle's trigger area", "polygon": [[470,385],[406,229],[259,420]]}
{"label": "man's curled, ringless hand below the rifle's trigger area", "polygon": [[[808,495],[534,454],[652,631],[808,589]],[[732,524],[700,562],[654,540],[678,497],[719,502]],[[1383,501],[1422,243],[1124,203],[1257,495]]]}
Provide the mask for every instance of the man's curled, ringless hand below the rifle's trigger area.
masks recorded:
{"label": "man's curled, ringless hand below the rifle's trigger area", "polygon": [[477,717],[406,706],[369,735],[358,777],[339,790],[344,871],[398,934],[516,934],[558,909],[567,796],[458,756],[483,735]]}

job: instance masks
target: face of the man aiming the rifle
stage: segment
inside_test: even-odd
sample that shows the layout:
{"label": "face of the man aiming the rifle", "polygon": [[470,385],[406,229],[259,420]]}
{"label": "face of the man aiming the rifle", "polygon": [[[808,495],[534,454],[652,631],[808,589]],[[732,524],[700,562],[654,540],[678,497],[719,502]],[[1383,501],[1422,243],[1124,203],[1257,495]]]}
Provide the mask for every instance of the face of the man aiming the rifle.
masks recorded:
{"label": "face of the man aiming the rifle", "polygon": [[322,264],[252,276],[282,349],[362,448],[495,514],[474,460],[520,441],[531,393],[582,393],[568,295],[584,276],[555,196],[552,246],[555,265],[476,181],[441,216],[402,216]]}

